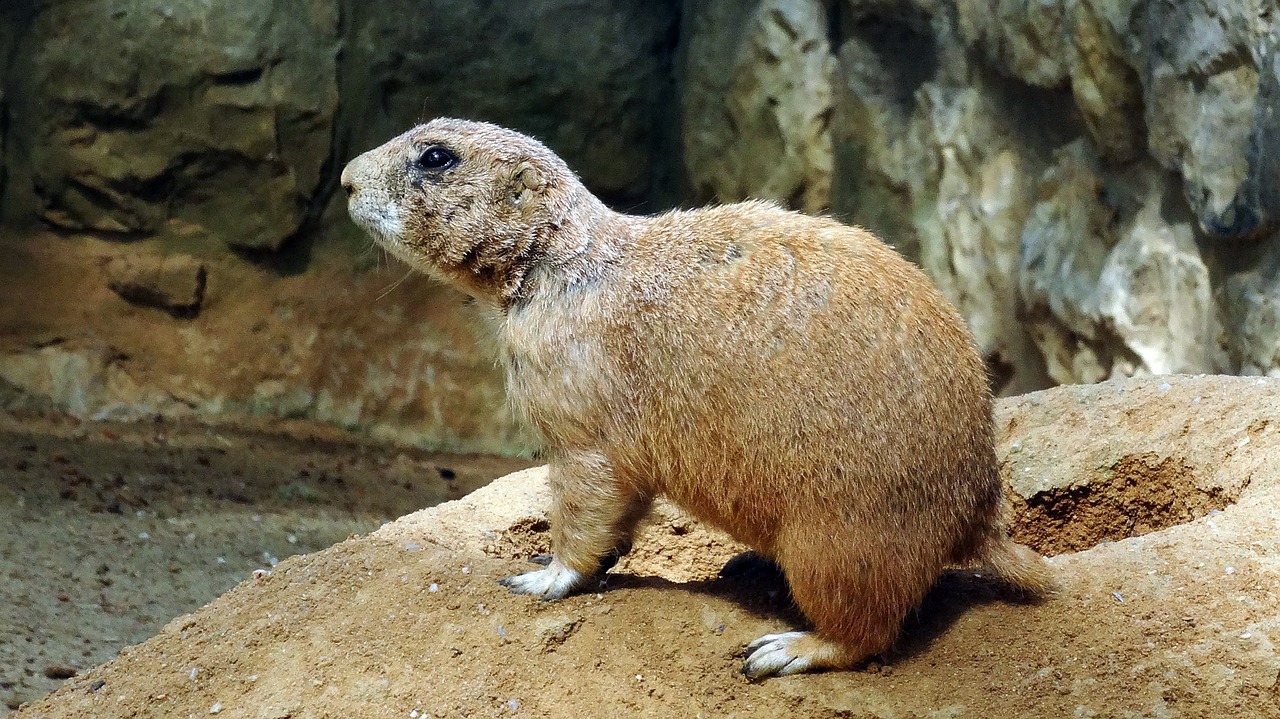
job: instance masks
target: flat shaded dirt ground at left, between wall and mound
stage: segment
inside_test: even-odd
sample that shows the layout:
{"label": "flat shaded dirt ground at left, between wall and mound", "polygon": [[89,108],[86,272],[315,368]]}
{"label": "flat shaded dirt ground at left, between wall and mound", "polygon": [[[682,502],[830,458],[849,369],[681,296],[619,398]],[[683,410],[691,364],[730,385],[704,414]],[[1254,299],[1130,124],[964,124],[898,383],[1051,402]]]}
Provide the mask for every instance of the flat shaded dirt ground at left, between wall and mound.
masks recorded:
{"label": "flat shaded dirt ground at left, between wall and mound", "polygon": [[0,413],[0,715],[256,569],[525,466],[379,446],[305,422]]}

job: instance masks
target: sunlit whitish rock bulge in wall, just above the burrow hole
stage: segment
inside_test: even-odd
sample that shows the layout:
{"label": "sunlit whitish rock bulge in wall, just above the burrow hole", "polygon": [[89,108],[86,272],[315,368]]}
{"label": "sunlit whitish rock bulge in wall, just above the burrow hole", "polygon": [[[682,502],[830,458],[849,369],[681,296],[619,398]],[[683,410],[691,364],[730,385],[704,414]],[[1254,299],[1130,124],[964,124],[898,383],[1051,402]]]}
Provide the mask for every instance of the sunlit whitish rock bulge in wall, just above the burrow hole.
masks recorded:
{"label": "sunlit whitish rock bulge in wall, just above the burrow hole", "polygon": [[1076,142],[1041,180],[1019,289],[1053,380],[1222,368],[1210,271],[1193,226],[1162,215],[1176,192],[1164,179],[1147,168],[1105,182],[1098,159]]}

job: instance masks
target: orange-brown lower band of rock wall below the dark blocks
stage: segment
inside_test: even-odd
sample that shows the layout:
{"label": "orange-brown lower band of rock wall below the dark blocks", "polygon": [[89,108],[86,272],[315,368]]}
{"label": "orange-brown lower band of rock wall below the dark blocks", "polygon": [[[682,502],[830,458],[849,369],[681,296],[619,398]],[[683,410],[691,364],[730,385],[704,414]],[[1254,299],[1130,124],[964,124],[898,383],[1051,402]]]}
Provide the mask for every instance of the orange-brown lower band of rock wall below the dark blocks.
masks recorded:
{"label": "orange-brown lower band of rock wall below the dark blocks", "polygon": [[[29,253],[0,244],[6,406],[49,406],[81,420],[307,418],[456,452],[529,446],[477,317],[457,293],[406,278],[407,269],[353,276],[325,264],[279,278],[237,260],[202,261],[200,312],[175,322],[108,287],[151,292],[164,278],[148,271],[168,261],[140,266],[145,256],[129,255],[113,265],[101,243],[41,237]],[[125,270],[133,279],[122,283]]]}

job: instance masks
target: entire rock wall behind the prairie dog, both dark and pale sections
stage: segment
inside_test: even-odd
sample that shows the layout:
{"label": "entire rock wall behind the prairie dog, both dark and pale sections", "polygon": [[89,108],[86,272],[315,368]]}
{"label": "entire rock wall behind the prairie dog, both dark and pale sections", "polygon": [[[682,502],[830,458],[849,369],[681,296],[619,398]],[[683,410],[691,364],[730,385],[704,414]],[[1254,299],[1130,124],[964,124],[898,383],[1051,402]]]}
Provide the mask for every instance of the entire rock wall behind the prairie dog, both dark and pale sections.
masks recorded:
{"label": "entire rock wall behind the prairie dog, both dark and pale sections", "polygon": [[636,212],[881,233],[1005,394],[1280,374],[1272,0],[9,0],[0,403],[516,452],[452,292],[337,175],[412,123],[543,138]]}

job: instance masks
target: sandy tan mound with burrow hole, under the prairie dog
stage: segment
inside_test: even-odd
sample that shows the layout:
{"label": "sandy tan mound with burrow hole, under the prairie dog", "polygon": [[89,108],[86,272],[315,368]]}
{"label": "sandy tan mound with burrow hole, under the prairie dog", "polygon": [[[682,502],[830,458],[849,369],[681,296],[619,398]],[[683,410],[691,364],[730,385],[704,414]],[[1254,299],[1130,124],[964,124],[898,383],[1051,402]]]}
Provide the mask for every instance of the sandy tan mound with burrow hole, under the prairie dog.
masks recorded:
{"label": "sandy tan mound with burrow hole, under the prairie dog", "polygon": [[1018,535],[1074,551],[1062,594],[950,574],[867,670],[748,683],[785,587],[716,578],[737,548],[666,508],[600,591],[508,595],[545,546],[530,470],[284,560],[18,716],[1280,716],[1280,381],[1062,388],[998,421]]}

